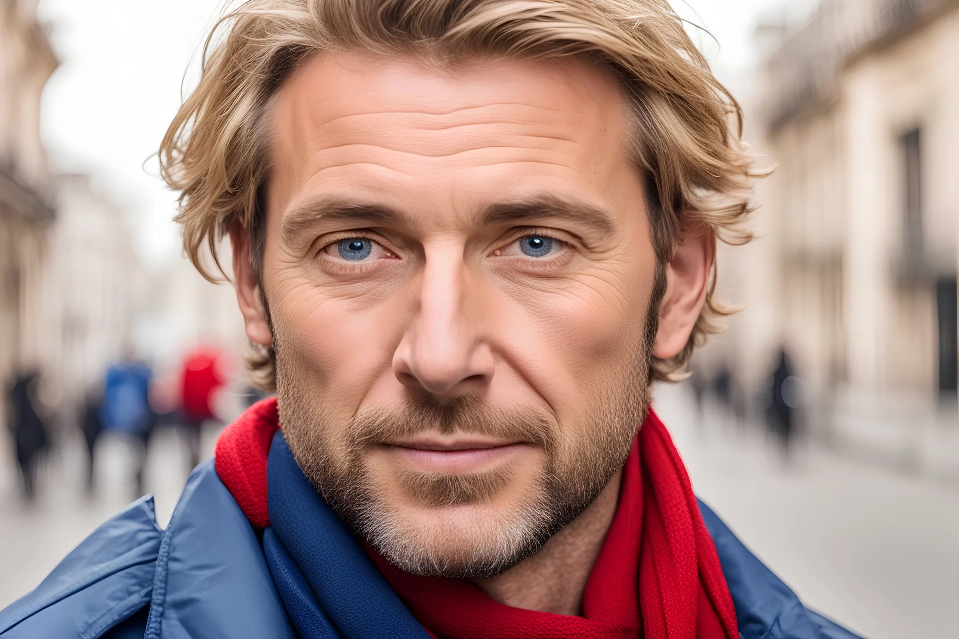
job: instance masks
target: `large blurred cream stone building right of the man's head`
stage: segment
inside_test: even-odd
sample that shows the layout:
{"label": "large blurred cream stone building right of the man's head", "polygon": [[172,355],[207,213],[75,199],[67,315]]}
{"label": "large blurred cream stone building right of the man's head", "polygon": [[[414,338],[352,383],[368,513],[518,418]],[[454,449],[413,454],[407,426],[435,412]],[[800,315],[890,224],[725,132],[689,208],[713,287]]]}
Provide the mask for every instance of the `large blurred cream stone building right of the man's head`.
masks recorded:
{"label": "large blurred cream stone building right of the man's head", "polygon": [[760,35],[755,137],[779,166],[751,302],[816,425],[915,448],[902,424],[955,421],[959,1],[824,0]]}

